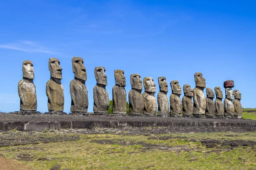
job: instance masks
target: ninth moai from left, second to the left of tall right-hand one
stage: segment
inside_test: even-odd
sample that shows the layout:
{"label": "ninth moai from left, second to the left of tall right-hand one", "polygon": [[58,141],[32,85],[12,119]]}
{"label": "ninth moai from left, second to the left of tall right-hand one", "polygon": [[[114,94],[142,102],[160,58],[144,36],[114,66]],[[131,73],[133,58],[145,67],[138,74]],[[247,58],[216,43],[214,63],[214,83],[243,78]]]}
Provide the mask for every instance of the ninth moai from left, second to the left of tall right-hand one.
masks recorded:
{"label": "ninth moai from left, second to the left of tall right-hand one", "polygon": [[182,102],[180,99],[181,87],[177,80],[171,82],[172,94],[170,96],[170,114],[171,116],[179,116],[182,111]]}

